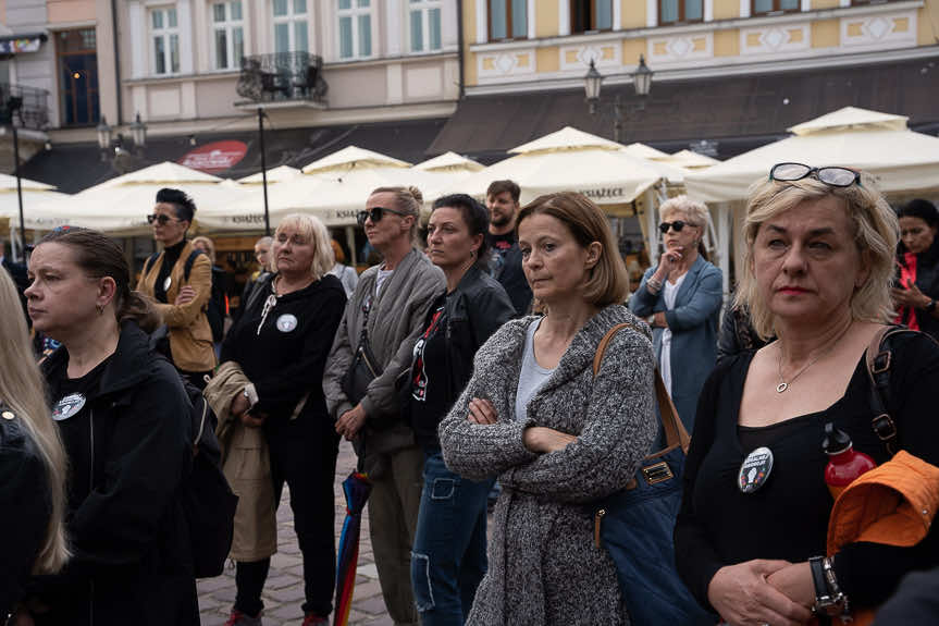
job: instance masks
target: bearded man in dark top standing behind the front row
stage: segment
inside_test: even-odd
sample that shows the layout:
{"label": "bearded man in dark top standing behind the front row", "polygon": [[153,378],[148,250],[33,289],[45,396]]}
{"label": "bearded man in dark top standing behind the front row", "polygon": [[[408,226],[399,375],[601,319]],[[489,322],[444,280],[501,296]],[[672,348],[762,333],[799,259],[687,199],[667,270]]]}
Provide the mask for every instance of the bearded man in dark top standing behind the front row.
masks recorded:
{"label": "bearded man in dark top standing behind the front row", "polygon": [[531,287],[521,270],[521,250],[515,232],[521,189],[512,181],[494,181],[486,189],[486,208],[490,211],[489,245],[492,246],[490,271],[508,294],[516,317],[529,312]]}

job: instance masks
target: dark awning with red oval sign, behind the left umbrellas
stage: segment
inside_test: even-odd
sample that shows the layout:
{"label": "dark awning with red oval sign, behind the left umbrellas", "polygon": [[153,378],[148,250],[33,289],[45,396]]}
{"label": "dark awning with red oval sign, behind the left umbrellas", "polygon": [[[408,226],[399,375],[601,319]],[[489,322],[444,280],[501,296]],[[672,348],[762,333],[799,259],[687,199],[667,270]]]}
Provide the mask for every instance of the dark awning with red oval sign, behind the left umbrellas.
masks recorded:
{"label": "dark awning with red oval sign, behind the left umbrellas", "polygon": [[[302,168],[351,145],[417,163],[427,158],[428,147],[445,122],[446,119],[432,119],[268,131],[264,133],[268,170],[280,165]],[[196,134],[194,146],[188,134],[147,137],[143,158],[133,155],[128,146],[128,151],[107,161],[101,161],[97,144],[54,144],[51,150],[39,151],[24,163],[21,173],[24,177],[54,185],[60,192],[74,194],[122,173],[162,161],[187,161],[189,165],[201,162],[210,168],[207,171],[223,179],[242,179],[261,170],[257,132]],[[202,147],[217,143],[240,143],[244,151],[220,150],[218,155],[198,154],[199,158],[186,159]],[[219,169],[223,165],[228,167]]]}

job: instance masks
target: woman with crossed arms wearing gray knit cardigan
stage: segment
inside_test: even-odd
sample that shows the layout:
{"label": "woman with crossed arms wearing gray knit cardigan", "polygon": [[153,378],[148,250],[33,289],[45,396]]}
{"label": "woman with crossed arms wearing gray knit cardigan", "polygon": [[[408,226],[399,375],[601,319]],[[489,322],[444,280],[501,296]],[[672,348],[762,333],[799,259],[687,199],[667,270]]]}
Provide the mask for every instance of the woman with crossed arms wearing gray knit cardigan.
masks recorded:
{"label": "woman with crossed arms wearing gray knit cardigan", "polygon": [[[588,504],[626,487],[656,433],[647,327],[622,306],[626,269],[605,216],[580,194],[541,196],[518,218],[522,268],[544,317],[503,326],[440,426],[444,461],[498,476],[490,569],[468,624],[629,624]],[[609,343],[596,378],[592,363]]]}

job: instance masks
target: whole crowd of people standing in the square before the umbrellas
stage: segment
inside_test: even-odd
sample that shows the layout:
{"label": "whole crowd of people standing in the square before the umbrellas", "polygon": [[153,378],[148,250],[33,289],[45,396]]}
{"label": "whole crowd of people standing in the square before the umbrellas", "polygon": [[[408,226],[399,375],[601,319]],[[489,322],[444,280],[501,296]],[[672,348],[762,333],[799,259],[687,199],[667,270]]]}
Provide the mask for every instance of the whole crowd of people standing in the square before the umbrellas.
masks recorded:
{"label": "whole crowd of people standing in the square before the umbrellas", "polygon": [[[422,225],[419,189],[376,188],[358,222],[381,260],[361,273],[319,219],[287,216],[232,310],[180,189],[156,197],[139,279],[82,228],[26,268],[2,259],[0,623],[199,623],[194,396],[238,495],[227,626],[263,623],[285,484],[297,619],[329,623],[342,438],[396,625],[637,624],[597,503],[638,480],[682,492],[646,521],[674,544],[633,556],[668,555],[695,624],[939,619],[936,207],[778,164],[751,188],[725,303],[705,205],[662,204],[662,254],[631,291],[600,207],[520,197],[495,181]],[[663,461],[657,389],[683,467]],[[845,478],[848,457],[867,474]]]}

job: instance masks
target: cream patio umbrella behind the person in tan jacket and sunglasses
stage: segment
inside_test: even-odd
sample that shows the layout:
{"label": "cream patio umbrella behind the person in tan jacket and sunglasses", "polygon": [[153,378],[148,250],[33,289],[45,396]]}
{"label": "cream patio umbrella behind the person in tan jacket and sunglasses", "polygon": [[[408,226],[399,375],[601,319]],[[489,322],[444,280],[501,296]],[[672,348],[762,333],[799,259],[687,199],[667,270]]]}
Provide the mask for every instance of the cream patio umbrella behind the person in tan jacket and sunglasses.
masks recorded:
{"label": "cream patio umbrella behind the person in tan jacket and sunglasses", "polygon": [[70,224],[111,234],[149,234],[147,214],[153,210],[157,192],[176,187],[196,202],[196,221],[203,210],[225,207],[245,191],[237,185],[220,185],[222,179],[172,162],[158,163],[89,187],[67,201],[44,202],[36,214],[42,226]]}

